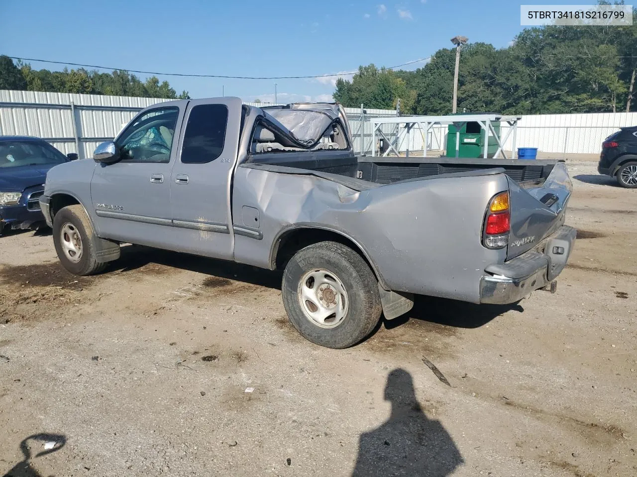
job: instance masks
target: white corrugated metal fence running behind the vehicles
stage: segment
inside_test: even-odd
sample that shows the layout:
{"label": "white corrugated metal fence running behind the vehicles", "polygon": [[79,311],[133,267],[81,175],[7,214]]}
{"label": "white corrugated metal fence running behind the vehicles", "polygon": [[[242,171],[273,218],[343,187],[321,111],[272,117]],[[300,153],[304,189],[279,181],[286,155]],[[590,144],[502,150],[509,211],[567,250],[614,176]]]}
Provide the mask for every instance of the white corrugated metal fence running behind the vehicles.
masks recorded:
{"label": "white corrugated metal fence running behind the vehicles", "polygon": [[[140,109],[165,101],[157,98],[0,90],[0,135],[42,137],[63,153],[92,156],[97,144],[113,139]],[[260,106],[260,104],[252,104]],[[261,104],[261,106],[264,106]],[[371,151],[371,118],[396,116],[391,109],[345,108],[354,136],[354,151]],[[599,153],[601,142],[620,127],[637,125],[637,113],[539,114],[518,123],[517,147],[538,148],[555,156]],[[503,125],[503,128],[505,125]],[[392,140],[396,125],[383,125]],[[503,131],[503,135],[506,131]],[[427,149],[445,149],[445,127],[427,135]],[[418,131],[401,150],[422,149]]]}

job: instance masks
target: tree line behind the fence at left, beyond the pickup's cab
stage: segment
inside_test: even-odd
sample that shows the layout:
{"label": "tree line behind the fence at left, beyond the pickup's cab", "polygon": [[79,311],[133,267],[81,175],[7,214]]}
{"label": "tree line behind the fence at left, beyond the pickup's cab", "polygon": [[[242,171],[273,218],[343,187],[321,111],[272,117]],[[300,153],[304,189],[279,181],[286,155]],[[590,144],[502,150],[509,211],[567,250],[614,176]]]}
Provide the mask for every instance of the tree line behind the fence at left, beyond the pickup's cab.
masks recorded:
{"label": "tree line behind the fence at left, beyond the pickup's cab", "polygon": [[8,56],[0,55],[0,90],[27,90],[56,93],[85,93],[145,98],[189,99],[187,91],[177,95],[168,81],[151,76],[141,81],[123,70],[99,73],[86,69],[64,68],[62,71],[33,69],[18,60],[14,64]]}

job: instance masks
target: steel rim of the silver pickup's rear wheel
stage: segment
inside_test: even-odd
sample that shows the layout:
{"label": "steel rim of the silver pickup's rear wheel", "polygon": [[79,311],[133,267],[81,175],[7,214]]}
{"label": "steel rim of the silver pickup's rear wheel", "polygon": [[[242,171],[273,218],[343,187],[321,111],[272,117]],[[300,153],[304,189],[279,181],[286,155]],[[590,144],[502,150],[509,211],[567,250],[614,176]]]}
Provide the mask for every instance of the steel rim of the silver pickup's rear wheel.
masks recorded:
{"label": "steel rim of the silver pickup's rear wheel", "polygon": [[333,329],[345,321],[349,300],[336,273],[312,268],[299,280],[297,296],[303,314],[312,324]]}

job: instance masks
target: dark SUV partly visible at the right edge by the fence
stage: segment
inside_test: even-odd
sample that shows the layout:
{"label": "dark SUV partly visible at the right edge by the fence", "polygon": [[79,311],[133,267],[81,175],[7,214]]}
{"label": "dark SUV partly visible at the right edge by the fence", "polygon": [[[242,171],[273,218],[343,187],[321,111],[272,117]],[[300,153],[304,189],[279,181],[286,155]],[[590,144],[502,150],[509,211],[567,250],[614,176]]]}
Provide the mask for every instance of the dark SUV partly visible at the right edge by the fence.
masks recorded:
{"label": "dark SUV partly visible at the right edge by the fence", "polygon": [[599,156],[598,172],[617,177],[622,187],[637,188],[637,126],[622,128],[606,137]]}

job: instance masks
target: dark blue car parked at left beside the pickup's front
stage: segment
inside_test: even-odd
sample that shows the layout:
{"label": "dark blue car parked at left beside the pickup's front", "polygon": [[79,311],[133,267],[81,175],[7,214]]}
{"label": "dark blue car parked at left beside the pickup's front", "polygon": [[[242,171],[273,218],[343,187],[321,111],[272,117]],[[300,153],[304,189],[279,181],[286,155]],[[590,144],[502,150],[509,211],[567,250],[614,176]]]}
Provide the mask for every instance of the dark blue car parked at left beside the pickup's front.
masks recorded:
{"label": "dark blue car parked at left beside the pickup's front", "polygon": [[47,172],[77,157],[75,153],[65,156],[38,137],[0,136],[0,234],[8,226],[45,225],[39,197]]}

